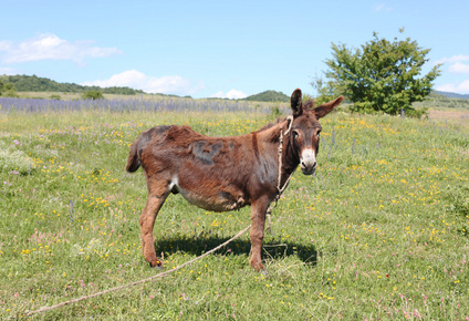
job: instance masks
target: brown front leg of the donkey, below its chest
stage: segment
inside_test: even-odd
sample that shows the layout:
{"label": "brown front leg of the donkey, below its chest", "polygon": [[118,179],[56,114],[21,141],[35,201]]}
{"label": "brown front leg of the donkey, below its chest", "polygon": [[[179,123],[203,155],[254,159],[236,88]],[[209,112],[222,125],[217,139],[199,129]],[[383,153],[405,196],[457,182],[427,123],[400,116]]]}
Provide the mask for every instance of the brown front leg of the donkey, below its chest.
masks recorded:
{"label": "brown front leg of the donkey, below its chest", "polygon": [[261,258],[262,241],[264,237],[265,211],[270,201],[262,197],[251,205],[251,267],[257,271],[264,270]]}

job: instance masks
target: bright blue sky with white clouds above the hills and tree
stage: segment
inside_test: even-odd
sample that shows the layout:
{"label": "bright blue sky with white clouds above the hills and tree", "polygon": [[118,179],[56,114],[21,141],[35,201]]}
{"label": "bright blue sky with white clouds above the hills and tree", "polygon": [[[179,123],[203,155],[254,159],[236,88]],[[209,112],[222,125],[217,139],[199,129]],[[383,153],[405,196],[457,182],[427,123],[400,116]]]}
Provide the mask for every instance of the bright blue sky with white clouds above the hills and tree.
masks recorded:
{"label": "bright blue sky with white clouds above the hills and tree", "polygon": [[377,32],[431,49],[424,72],[444,63],[435,89],[469,93],[466,0],[0,0],[0,74],[192,97],[313,94],[332,42],[357,48]]}

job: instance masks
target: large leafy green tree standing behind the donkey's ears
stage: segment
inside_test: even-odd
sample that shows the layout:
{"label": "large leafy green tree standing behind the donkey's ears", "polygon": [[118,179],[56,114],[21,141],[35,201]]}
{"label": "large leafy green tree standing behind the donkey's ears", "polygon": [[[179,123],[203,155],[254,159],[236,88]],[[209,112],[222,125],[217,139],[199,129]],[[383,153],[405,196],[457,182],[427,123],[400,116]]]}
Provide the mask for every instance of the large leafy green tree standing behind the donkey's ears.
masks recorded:
{"label": "large leafy green tree standing behind the donkey's ears", "polygon": [[325,61],[330,68],[324,73],[326,80],[316,79],[312,83],[320,101],[343,94],[354,103],[354,112],[395,115],[404,110],[408,115],[421,116],[425,111],[413,108],[411,103],[423,101],[430,93],[432,81],[440,75],[440,65],[419,77],[429,49],[418,46],[409,38],[389,42],[379,39],[376,32],[373,37],[359,49],[332,43],[333,59]]}

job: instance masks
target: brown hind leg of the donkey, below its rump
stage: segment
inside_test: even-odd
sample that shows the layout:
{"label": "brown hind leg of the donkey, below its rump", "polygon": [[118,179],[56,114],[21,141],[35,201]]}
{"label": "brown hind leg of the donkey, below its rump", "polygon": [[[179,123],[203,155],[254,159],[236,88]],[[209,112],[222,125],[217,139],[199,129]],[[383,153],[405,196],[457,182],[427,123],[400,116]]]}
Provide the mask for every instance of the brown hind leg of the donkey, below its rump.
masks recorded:
{"label": "brown hind leg of the donkey, below its rump", "polygon": [[163,263],[156,256],[155,244],[153,239],[153,227],[159,209],[169,195],[168,185],[161,180],[155,182],[147,179],[148,199],[140,215],[142,250],[145,259],[150,267],[161,268]]}

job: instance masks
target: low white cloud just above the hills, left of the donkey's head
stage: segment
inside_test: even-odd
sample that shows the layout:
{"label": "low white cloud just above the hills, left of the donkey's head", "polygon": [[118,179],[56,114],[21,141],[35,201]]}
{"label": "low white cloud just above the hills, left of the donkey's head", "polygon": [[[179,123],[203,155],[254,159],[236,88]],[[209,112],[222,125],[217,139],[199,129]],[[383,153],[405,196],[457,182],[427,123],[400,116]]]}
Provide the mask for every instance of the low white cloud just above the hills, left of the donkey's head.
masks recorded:
{"label": "low white cloud just above the hills, left of the donkey's head", "polygon": [[128,86],[147,93],[192,95],[204,89],[204,83],[194,83],[178,75],[155,77],[136,70],[128,70],[111,76],[108,80],[96,80],[82,83],[101,87]]}

